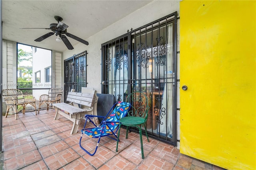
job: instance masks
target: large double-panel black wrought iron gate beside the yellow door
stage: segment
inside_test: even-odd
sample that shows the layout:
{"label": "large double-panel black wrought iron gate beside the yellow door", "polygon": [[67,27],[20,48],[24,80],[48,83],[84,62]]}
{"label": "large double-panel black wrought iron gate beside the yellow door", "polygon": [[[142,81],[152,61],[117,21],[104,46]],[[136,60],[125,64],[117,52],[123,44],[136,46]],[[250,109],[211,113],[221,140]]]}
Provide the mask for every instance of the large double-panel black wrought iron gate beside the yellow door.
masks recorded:
{"label": "large double-panel black wrought iron gate beside the yellow door", "polygon": [[125,101],[132,91],[150,101],[148,134],[176,144],[177,12],[102,44],[102,93]]}

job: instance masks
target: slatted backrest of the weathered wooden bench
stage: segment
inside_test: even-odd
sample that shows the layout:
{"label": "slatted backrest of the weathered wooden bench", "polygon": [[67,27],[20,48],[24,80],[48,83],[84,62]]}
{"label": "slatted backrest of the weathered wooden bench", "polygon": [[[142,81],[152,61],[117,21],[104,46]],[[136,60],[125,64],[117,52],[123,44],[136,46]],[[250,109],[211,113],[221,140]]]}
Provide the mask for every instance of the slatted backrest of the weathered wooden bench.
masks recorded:
{"label": "slatted backrest of the weathered wooden bench", "polygon": [[94,101],[94,93],[90,94],[90,93],[68,92],[66,101],[92,107],[93,101]]}

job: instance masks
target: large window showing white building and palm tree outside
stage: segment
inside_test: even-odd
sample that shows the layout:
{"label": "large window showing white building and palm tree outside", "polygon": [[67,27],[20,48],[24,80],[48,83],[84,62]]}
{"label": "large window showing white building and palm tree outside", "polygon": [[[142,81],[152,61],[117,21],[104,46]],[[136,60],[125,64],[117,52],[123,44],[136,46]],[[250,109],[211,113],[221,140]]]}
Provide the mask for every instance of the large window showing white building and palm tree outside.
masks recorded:
{"label": "large window showing white building and palm tree outside", "polygon": [[[48,69],[46,69],[48,68]],[[24,45],[17,45],[17,83],[24,94],[40,95],[52,87],[52,51]],[[26,90],[25,90],[26,89]],[[36,89],[46,89],[45,91]]]}

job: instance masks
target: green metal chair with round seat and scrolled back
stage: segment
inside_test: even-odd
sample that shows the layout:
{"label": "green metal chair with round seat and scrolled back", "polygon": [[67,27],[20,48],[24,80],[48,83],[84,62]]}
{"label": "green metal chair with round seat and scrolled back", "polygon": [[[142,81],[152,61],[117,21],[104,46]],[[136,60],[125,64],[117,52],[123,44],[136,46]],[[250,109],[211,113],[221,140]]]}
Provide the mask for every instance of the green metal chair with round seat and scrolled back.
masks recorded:
{"label": "green metal chair with round seat and scrolled back", "polygon": [[[128,130],[129,127],[137,127],[140,132],[140,146],[141,146],[141,154],[142,159],[144,159],[143,152],[143,143],[142,143],[142,127],[144,126],[146,136],[148,139],[147,129],[146,129],[146,121],[148,119],[148,98],[142,92],[133,92],[126,98],[126,102],[131,103],[131,107],[128,111],[128,116],[120,119],[119,129],[118,129],[118,139],[116,144],[116,152],[118,152],[118,142],[119,142],[119,134],[121,125],[126,126],[126,139],[128,138]],[[149,140],[148,140],[149,142]]]}

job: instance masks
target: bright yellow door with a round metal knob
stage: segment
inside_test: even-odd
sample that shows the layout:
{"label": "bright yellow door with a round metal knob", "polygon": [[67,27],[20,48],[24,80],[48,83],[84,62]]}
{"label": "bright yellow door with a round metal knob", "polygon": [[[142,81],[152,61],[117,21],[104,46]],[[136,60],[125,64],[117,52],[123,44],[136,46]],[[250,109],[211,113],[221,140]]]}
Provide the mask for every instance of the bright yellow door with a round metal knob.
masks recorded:
{"label": "bright yellow door with a round metal knob", "polygon": [[256,169],[255,11],[180,2],[180,152],[227,169]]}

